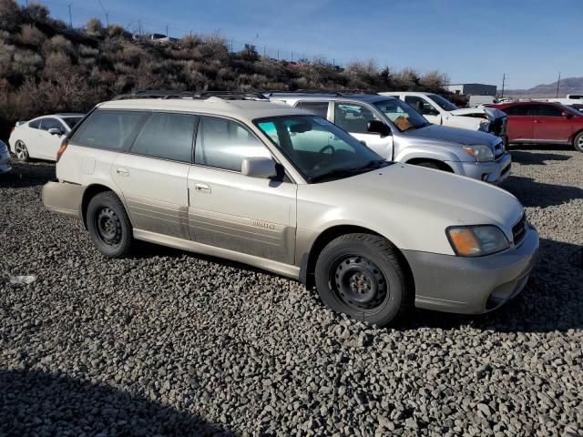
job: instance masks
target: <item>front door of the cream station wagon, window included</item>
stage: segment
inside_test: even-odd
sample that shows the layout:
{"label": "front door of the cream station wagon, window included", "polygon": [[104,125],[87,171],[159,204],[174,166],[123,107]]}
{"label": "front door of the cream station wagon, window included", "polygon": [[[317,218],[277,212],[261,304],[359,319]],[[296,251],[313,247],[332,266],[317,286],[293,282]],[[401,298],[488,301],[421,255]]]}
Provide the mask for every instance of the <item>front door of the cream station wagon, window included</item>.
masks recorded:
{"label": "front door of the cream station wagon, window included", "polygon": [[240,173],[244,158],[271,157],[239,122],[200,117],[189,171],[190,238],[210,246],[293,264],[296,188]]}

